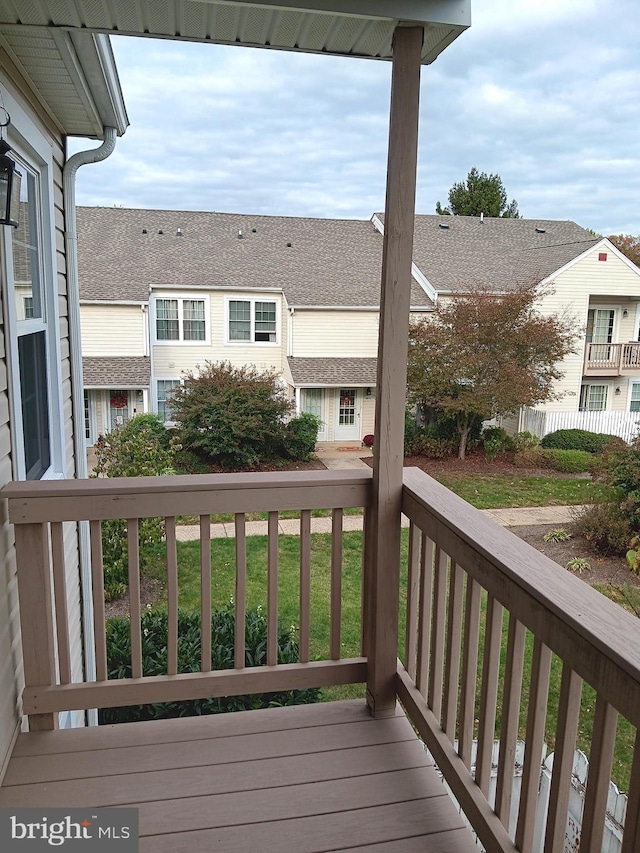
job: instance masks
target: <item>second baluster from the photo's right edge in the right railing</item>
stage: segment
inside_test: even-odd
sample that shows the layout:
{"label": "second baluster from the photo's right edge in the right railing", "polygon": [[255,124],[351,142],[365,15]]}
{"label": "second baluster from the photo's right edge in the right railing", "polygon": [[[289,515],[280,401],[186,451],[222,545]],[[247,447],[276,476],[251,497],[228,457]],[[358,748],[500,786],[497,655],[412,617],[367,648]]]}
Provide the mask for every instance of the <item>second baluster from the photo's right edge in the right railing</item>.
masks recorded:
{"label": "second baluster from the photo's right edge in the right railing", "polygon": [[[591,853],[602,848],[604,820],[607,812],[609,779],[616,745],[618,712],[601,696],[596,699],[593,720],[591,750],[589,752],[589,775],[584,796],[580,848]],[[632,801],[629,800],[629,804]],[[632,808],[637,808],[633,803]]]}

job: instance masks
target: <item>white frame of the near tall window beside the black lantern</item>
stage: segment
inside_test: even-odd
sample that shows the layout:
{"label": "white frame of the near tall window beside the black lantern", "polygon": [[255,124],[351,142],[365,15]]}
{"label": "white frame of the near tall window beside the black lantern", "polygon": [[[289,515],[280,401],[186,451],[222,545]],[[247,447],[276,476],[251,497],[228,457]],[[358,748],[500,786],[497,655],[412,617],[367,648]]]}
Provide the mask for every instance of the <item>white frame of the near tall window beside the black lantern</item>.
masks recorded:
{"label": "white frame of the near tall window beside the black lantern", "polygon": [[[60,321],[58,314],[56,235],[53,219],[54,186],[53,154],[51,145],[38,127],[26,115],[11,94],[5,92],[5,105],[11,113],[8,128],[8,143],[22,172],[23,181],[27,171],[34,175],[37,190],[37,217],[39,227],[39,261],[41,276],[41,318],[18,321],[10,226],[0,226],[3,275],[3,303],[5,322],[5,345],[8,370],[8,392],[11,419],[11,450],[13,477],[26,479],[24,431],[22,420],[22,394],[18,357],[18,338],[22,334],[44,332],[45,366],[47,372],[47,404],[49,430],[49,467],[40,480],[62,479],[69,476],[70,460],[65,457],[65,420],[62,390],[62,364],[60,353]],[[83,429],[84,424],[75,424],[74,429]]]}

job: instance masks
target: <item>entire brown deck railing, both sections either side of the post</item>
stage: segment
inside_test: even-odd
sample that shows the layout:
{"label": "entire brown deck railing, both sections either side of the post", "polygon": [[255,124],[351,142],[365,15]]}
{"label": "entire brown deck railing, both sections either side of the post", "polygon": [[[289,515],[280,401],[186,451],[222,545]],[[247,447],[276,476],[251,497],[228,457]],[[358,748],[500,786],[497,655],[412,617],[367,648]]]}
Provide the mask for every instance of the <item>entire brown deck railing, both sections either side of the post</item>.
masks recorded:
{"label": "entire brown deck railing, both sections either side of the post", "polygon": [[[238,693],[280,691],[367,679],[367,646],[396,644],[379,635],[369,511],[369,472],[295,472],[205,477],[139,478],[14,483],[6,487],[15,525],[20,607],[23,625],[24,708],[34,728],[50,728],[56,712],[175,701]],[[362,536],[362,648],[341,659],[342,510],[365,512]],[[329,653],[311,660],[313,575],[311,511],[332,511]],[[300,511],[300,661],[278,665],[278,512]],[[410,519],[404,541],[406,593],[400,602],[402,661],[396,692],[435,757],[455,797],[491,851],[555,853],[563,849],[571,769],[582,726],[583,684],[595,698],[590,738],[590,772],[582,824],[582,851],[600,851],[613,763],[618,717],[635,729],[631,747],[630,802],[640,801],[640,620],[624,612],[587,584],[486,519],[421,471],[404,474],[403,512]],[[201,672],[177,673],[178,573],[175,519],[200,516],[201,618],[211,622],[210,514],[236,518],[237,623],[244,623],[247,550],[245,513],[266,511],[269,519],[266,566],[269,624],[268,665],[244,666],[244,633],[235,636],[235,668],[211,672],[206,630],[202,632]],[[168,671],[144,674],[140,636],[137,524],[164,517],[166,524]],[[108,679],[102,587],[101,524],[127,519],[129,544],[132,665],[130,679]],[[63,525],[87,520],[91,528],[97,680],[71,681],[66,614]],[[400,523],[400,519],[398,519]],[[404,581],[402,590],[405,589]],[[55,605],[55,606],[54,606]],[[377,612],[380,613],[380,602]],[[56,651],[57,649],[57,651]],[[559,698],[549,695],[553,670],[561,671]],[[535,847],[536,799],[548,714],[557,716],[551,798],[544,848]],[[548,733],[547,733],[548,734]],[[523,782],[512,820],[512,779],[516,740],[526,740]],[[497,794],[489,799],[494,739],[500,741]],[[472,766],[472,744],[477,758]],[[622,853],[640,849],[640,813],[627,815]],[[510,828],[511,824],[511,828]],[[514,828],[515,827],[515,828]]]}

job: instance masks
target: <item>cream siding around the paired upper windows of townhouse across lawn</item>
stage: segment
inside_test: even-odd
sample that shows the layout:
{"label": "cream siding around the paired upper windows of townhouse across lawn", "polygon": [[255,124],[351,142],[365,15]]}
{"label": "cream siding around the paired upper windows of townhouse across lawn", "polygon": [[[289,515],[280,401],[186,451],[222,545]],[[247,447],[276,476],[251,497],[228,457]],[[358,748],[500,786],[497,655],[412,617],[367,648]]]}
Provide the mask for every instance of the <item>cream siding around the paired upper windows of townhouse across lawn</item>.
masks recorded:
{"label": "cream siding around the paired upper windows of townhouse across lawn", "polygon": [[[175,295],[174,292],[162,293],[157,291],[160,298]],[[202,298],[202,293],[191,291],[180,291],[177,294],[181,298]],[[236,367],[243,365],[254,365],[260,370],[276,370],[282,372],[286,365],[287,347],[287,311],[284,299],[280,294],[265,293],[258,298],[263,301],[275,301],[278,303],[279,316],[278,340],[275,344],[227,343],[227,301],[228,299],[249,299],[254,295],[246,293],[211,293],[209,297],[208,310],[208,343],[191,343],[176,341],[171,343],[153,344],[153,370],[157,379],[178,378],[184,371],[195,371],[198,365],[204,365],[206,361],[229,361]],[[153,310],[151,322],[154,321]],[[152,329],[153,333],[153,329]]]}

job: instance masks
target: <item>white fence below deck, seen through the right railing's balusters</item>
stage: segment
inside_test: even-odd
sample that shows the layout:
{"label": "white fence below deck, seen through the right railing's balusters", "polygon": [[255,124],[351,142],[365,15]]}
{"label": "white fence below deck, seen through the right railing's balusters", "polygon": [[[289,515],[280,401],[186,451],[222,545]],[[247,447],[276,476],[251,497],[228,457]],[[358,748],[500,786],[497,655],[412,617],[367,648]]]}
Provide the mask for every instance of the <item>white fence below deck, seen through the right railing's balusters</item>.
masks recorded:
{"label": "white fence below deck, seen through the right railing's balusters", "polygon": [[[471,762],[475,764],[477,742],[474,741]],[[511,837],[515,836],[516,822],[518,818],[518,807],[520,803],[520,787],[522,784],[522,764],[524,761],[524,741],[518,741],[516,745],[515,763],[513,768],[513,791],[511,798],[511,815],[509,821],[509,832]],[[427,750],[428,751],[428,750]],[[498,756],[500,752],[500,741],[495,741],[493,744],[493,756],[491,759],[491,781],[489,784],[489,801],[493,804],[496,796],[496,779],[498,775]],[[546,754],[546,747],[545,747]],[[547,811],[549,808],[549,793],[551,790],[551,771],[553,768],[553,753],[546,756],[541,756],[540,766],[540,788],[538,792],[538,803],[536,807],[536,829],[533,843],[533,853],[542,853],[544,848],[544,829],[547,821]],[[571,795],[569,798],[569,815],[567,819],[567,829],[565,833],[564,848],[555,853],[575,853],[580,849],[580,830],[582,827],[582,812],[584,809],[584,795],[586,789],[587,773],[589,770],[589,760],[584,752],[576,750],[573,758],[573,776],[571,779]],[[446,782],[443,784],[447,789],[447,793],[455,802],[456,798],[451,793],[451,790]],[[627,811],[627,795],[621,794],[618,788],[609,783],[609,796],[607,798],[607,815],[605,819],[604,836],[602,839],[602,853],[620,853],[622,850],[622,831],[624,828],[624,819]],[[464,814],[461,816],[467,826],[473,833],[473,829],[466,821]],[[474,833],[475,835],[475,833]],[[480,850],[484,850],[480,842],[476,839],[476,844]]]}

